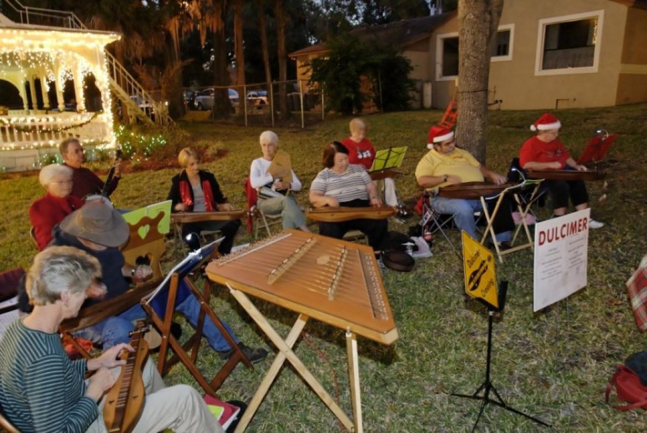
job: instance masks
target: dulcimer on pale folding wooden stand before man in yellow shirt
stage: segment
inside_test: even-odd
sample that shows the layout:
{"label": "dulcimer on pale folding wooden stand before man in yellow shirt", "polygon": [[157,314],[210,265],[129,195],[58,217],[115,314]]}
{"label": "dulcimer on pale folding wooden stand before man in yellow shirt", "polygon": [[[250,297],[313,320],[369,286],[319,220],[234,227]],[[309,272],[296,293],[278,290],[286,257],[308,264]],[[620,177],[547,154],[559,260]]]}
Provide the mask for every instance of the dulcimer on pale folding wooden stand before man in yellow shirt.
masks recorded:
{"label": "dulcimer on pale folding wooden stand before man in yellow shirt", "polygon": [[[440,188],[438,195],[450,199],[481,200],[481,206],[483,207],[483,216],[485,216],[485,220],[487,221],[487,227],[485,228],[485,231],[483,231],[483,236],[481,236],[480,243],[481,245],[483,245],[483,243],[485,243],[485,239],[487,239],[488,235],[490,235],[499,261],[503,263],[503,256],[505,256],[505,254],[510,254],[511,252],[516,252],[526,248],[532,249],[534,247],[530,228],[528,228],[528,224],[526,222],[526,216],[527,214],[529,214],[530,206],[534,201],[534,197],[536,197],[537,192],[539,191],[540,183],[541,180],[523,181],[520,184],[506,183],[501,185],[489,184],[485,182],[466,182]],[[533,189],[528,203],[524,206],[521,202],[521,199],[519,198],[518,190],[527,186],[530,186]],[[521,223],[514,230],[514,236],[512,237],[511,244],[514,245],[514,242],[516,241],[521,231],[521,227],[523,227],[528,241],[527,243],[523,243],[522,245],[517,245],[516,247],[502,251],[501,249],[499,249],[499,244],[496,241],[496,234],[494,233],[494,227],[492,227],[492,224],[494,223],[494,217],[496,217],[496,214],[501,208],[503,197],[507,193],[512,194],[512,197],[514,197],[517,212],[519,212],[521,216]],[[496,201],[496,205],[494,205],[492,212],[489,212],[486,198],[492,196],[498,197],[498,199]]]}

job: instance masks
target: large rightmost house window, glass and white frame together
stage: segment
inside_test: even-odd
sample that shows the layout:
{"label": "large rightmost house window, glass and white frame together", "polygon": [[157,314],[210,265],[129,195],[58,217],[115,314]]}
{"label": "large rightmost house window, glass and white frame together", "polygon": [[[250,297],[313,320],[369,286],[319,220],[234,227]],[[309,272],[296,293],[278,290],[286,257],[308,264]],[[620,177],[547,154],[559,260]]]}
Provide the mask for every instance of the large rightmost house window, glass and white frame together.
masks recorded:
{"label": "large rightmost house window, glass and white frame together", "polygon": [[536,72],[597,72],[603,16],[599,11],[540,20]]}

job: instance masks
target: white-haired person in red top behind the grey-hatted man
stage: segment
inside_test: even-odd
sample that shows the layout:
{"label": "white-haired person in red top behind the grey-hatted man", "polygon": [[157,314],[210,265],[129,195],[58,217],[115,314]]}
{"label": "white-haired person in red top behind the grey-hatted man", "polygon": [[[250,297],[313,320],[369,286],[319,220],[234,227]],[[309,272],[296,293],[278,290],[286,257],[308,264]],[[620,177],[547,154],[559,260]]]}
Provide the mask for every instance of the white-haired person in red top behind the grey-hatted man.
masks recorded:
{"label": "white-haired person in red top behind the grey-hatted man", "polygon": [[72,174],[71,168],[61,164],[41,168],[38,181],[47,194],[34,201],[29,208],[29,219],[34,227],[39,251],[52,240],[52,228],[85,203],[71,195]]}

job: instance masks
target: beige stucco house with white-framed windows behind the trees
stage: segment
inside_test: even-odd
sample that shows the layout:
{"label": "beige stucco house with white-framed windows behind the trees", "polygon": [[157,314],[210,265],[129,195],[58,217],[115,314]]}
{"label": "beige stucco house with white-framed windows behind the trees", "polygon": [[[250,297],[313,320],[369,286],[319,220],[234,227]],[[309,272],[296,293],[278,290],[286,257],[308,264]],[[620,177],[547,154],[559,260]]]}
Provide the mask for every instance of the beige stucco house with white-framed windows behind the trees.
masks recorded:
{"label": "beige stucco house with white-framed windows behind the trees", "polygon": [[[371,29],[402,35],[391,39],[411,60],[410,78],[432,83],[432,105],[446,107],[458,74],[456,15]],[[646,0],[506,0],[492,50],[489,99],[501,109],[647,102]],[[323,44],[292,52],[298,76],[325,52]]]}

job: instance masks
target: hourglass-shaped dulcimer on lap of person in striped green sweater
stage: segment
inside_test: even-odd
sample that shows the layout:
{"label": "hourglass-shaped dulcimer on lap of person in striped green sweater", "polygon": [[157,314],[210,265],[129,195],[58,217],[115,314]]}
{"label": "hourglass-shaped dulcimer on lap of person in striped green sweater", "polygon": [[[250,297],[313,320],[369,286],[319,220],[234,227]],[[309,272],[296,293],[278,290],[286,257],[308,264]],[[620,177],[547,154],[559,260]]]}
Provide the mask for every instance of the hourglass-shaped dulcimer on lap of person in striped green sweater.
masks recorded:
{"label": "hourglass-shaped dulcimer on lap of person in striped green sweater", "polygon": [[142,370],[148,359],[148,344],[144,334],[148,332],[144,320],[137,321],[131,332],[130,342],[134,351],[125,350],[121,358],[126,361],[113,387],[105,395],[104,423],[110,433],[132,432],[144,410],[144,381]]}

